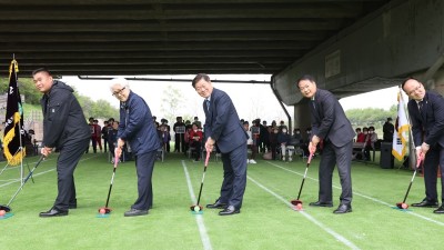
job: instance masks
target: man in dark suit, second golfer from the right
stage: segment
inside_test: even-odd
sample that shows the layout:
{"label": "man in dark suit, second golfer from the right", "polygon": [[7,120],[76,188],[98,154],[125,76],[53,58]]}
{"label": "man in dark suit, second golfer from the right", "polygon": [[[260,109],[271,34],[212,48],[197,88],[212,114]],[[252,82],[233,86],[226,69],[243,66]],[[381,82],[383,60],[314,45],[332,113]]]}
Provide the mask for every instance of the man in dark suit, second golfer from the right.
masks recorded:
{"label": "man in dark suit, second golfer from the right", "polygon": [[337,99],[330,91],[317,89],[312,76],[304,76],[299,79],[297,88],[302,96],[311,100],[312,137],[309,144],[310,152],[314,153],[317,144],[323,140],[319,169],[319,200],[310,203],[310,206],[333,207],[332,177],[334,166],[337,164],[342,193],[341,203],[334,210],[334,213],[351,212],[353,197],[351,163],[355,136],[352,124],[345,117]]}

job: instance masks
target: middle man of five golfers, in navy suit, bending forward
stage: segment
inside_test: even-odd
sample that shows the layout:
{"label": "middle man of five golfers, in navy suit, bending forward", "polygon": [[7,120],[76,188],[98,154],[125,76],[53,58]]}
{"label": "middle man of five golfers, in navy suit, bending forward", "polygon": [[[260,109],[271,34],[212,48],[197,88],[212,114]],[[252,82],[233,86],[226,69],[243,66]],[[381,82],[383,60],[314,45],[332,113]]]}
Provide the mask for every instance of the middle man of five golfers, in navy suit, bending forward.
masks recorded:
{"label": "middle man of five golfers, in navy suit, bending forward", "polygon": [[223,209],[219,212],[220,216],[239,213],[246,184],[246,132],[230,97],[213,88],[209,76],[199,73],[192,86],[205,99],[203,110],[206,152],[213,151],[216,144],[223,162],[221,196],[206,208]]}

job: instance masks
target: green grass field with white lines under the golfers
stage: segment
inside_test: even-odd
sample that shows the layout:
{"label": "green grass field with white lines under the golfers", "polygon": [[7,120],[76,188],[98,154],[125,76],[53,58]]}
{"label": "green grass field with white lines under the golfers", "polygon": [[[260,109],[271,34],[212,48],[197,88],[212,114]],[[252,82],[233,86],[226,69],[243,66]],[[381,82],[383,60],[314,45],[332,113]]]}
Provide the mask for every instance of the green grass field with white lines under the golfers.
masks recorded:
{"label": "green grass field with white lines under the golfers", "polygon": [[[240,214],[218,216],[204,209],[192,214],[203,162],[169,153],[154,167],[154,206],[145,217],[125,218],[137,198],[134,162],[117,169],[109,218],[97,218],[104,206],[112,174],[105,154],[84,154],[75,170],[78,209],[68,217],[39,218],[57,194],[57,156],[47,159],[11,204],[13,216],[0,220],[1,249],[442,249],[444,216],[433,209],[393,209],[404,198],[412,171],[381,169],[353,162],[353,212],[333,214],[341,192],[334,172],[334,207],[312,208],[317,199],[319,158],[312,161],[301,200],[304,211],[291,209],[305,162],[259,160],[249,164],[244,203]],[[38,158],[27,158],[30,168]],[[376,160],[377,161],[377,160]],[[3,162],[4,166],[4,162]],[[6,204],[20,186],[18,168],[0,176],[0,202]],[[201,203],[218,198],[222,163],[211,160]],[[190,187],[191,186],[191,187]],[[417,177],[407,203],[424,198]]]}

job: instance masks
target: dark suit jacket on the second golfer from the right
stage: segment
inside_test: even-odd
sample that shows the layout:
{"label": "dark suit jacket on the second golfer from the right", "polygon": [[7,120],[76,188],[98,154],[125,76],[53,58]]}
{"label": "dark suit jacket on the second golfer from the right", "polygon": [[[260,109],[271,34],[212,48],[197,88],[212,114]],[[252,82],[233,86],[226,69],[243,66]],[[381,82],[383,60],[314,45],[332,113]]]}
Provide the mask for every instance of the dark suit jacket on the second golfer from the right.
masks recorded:
{"label": "dark suit jacket on the second golfer from the right", "polygon": [[355,132],[337,99],[327,90],[317,89],[311,101],[312,134],[342,147],[351,142]]}

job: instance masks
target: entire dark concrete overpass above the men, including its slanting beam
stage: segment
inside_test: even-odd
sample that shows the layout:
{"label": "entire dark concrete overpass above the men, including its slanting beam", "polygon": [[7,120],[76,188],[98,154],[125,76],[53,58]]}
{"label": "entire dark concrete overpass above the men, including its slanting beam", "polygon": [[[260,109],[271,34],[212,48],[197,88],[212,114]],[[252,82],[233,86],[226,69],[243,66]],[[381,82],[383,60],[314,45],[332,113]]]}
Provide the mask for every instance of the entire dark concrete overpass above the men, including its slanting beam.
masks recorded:
{"label": "entire dark concrete overpass above the men, including its slanting beam", "polygon": [[[443,1],[1,0],[0,73],[268,73],[282,103],[313,74],[339,98],[416,74],[441,87]],[[305,127],[303,120],[296,120]],[[302,123],[301,123],[302,122]]]}

